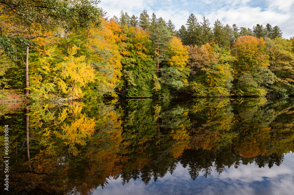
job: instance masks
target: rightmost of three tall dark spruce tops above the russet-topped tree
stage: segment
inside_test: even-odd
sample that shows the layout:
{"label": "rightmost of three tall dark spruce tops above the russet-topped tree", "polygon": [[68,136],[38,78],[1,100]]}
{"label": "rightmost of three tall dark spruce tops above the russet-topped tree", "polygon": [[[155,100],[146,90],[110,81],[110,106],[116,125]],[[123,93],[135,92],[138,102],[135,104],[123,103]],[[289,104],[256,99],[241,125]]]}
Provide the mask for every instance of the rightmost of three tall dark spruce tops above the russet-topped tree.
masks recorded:
{"label": "rightmost of three tall dark spruce tops above the russet-topped tree", "polygon": [[226,48],[229,43],[228,33],[223,24],[217,19],[213,26],[214,40],[218,46]]}

